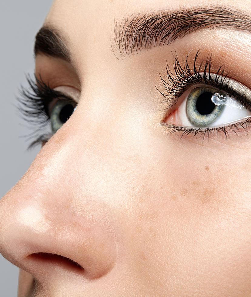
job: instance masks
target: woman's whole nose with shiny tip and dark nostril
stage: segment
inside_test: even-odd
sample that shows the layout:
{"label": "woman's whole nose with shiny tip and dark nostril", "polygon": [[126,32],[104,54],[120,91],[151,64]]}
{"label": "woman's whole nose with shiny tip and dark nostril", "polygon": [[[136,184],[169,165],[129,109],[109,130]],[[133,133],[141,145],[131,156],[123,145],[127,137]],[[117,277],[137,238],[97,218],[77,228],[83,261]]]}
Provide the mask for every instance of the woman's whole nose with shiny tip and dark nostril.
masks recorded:
{"label": "woman's whole nose with shiny tip and dark nostril", "polygon": [[87,177],[76,156],[67,159],[74,154],[72,141],[62,149],[66,142],[62,129],[0,203],[0,251],[40,283],[97,279],[116,261],[111,208],[83,190]]}

